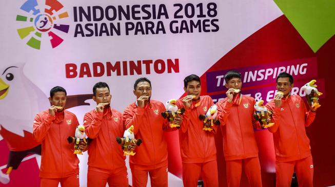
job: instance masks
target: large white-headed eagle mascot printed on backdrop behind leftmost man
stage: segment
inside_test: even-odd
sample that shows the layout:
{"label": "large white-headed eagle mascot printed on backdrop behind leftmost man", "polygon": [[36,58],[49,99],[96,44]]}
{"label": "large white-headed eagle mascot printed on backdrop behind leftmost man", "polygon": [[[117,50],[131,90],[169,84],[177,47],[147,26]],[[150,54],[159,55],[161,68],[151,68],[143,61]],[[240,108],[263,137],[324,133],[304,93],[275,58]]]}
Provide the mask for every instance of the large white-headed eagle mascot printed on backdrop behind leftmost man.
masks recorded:
{"label": "large white-headed eagle mascot printed on backdrop behind leftmost man", "polygon": [[[32,122],[36,113],[48,108],[50,103],[45,93],[24,75],[23,67],[24,63],[0,67],[0,143],[6,142],[9,149],[9,155],[1,155],[2,184],[9,183],[12,169],[17,169],[22,161],[34,158],[40,165],[41,143],[33,138]],[[67,108],[89,105],[84,101],[91,97],[68,96]]]}

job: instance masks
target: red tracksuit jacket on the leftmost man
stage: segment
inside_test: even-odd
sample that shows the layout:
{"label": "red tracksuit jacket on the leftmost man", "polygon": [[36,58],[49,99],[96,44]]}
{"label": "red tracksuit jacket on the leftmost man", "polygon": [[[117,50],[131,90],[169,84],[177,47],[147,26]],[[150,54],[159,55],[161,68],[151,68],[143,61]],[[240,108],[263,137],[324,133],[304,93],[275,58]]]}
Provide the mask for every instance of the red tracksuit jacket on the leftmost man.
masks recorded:
{"label": "red tracksuit jacket on the leftmost man", "polygon": [[42,142],[41,178],[63,178],[79,172],[73,144],[67,141],[77,126],[76,116],[67,110],[56,112],[55,116],[45,110],[35,116],[33,136]]}

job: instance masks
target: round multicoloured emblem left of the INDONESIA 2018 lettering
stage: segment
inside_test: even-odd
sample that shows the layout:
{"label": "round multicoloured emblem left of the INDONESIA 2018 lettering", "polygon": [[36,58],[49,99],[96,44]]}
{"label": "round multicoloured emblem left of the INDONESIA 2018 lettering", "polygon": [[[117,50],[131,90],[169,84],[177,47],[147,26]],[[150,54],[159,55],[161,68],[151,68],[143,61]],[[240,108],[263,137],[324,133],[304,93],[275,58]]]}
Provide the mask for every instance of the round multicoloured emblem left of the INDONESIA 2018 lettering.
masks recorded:
{"label": "round multicoloured emblem left of the INDONESIA 2018 lettering", "polygon": [[[61,32],[68,33],[69,25],[58,24],[63,18],[69,17],[63,5],[56,0],[45,0],[44,4],[37,4],[37,0],[27,0],[22,6],[22,15],[16,15],[16,21],[23,21],[23,28],[17,29],[21,39],[27,39],[27,45],[40,50],[42,37],[50,40],[52,48],[60,45],[64,40],[58,36]],[[43,40],[44,41],[44,40]]]}

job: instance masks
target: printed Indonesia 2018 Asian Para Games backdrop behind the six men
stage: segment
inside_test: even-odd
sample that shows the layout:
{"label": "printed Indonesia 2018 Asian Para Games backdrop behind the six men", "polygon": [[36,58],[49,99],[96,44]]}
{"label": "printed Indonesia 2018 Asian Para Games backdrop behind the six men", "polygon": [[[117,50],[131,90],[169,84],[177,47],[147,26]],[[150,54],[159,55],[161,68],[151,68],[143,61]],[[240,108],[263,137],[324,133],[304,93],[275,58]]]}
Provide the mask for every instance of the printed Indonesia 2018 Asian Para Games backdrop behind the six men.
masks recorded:
{"label": "printed Indonesia 2018 Asian Para Games backdrop behind the six men", "polygon": [[[215,103],[226,97],[224,75],[230,70],[241,72],[244,95],[265,103],[273,99],[281,72],[293,75],[291,94],[303,98],[301,87],[317,80],[322,106],[306,127],[314,185],[335,185],[335,126],[329,118],[335,104],[334,2],[17,0],[0,5],[0,186],[40,185],[41,143],[33,139],[32,124],[50,106],[52,87],[67,90],[66,109],[82,124],[96,106],[96,82],[109,84],[111,106],[123,112],[136,100],[137,78],[150,79],[152,98],[165,103],[185,96],[183,79],[196,74],[202,95]],[[274,186],[272,134],[254,131],[263,186]],[[183,186],[178,131],[165,136],[169,186]],[[212,146],[219,184],[226,186],[222,140],[219,130]],[[29,154],[6,175],[13,152]],[[80,185],[86,186],[88,155],[78,157]],[[241,185],[247,183],[243,174]]]}

